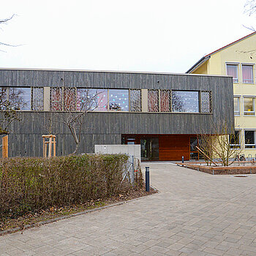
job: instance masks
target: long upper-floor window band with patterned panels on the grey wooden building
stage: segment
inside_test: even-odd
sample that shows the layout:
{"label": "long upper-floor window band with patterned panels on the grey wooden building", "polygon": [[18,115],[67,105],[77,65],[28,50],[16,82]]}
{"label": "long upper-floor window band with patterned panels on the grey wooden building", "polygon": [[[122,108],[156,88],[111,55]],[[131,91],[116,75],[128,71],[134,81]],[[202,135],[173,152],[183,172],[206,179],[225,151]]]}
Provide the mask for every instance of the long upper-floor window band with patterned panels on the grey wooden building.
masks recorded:
{"label": "long upper-floor window band with patterned panels on the grey wooden building", "polygon": [[[140,89],[50,89],[49,110],[53,111],[142,111]],[[15,110],[45,110],[44,88],[2,87],[0,100],[9,100]],[[211,91],[147,90],[148,112],[211,113]],[[47,104],[47,103],[46,103]]]}

